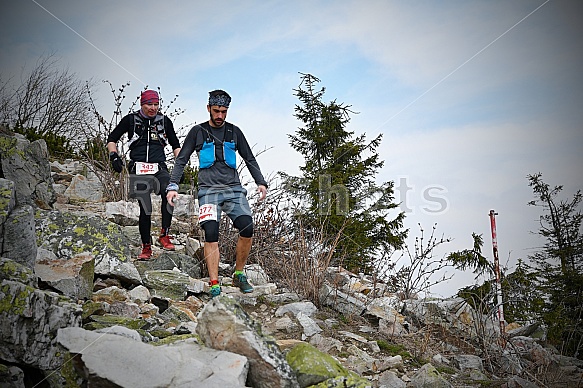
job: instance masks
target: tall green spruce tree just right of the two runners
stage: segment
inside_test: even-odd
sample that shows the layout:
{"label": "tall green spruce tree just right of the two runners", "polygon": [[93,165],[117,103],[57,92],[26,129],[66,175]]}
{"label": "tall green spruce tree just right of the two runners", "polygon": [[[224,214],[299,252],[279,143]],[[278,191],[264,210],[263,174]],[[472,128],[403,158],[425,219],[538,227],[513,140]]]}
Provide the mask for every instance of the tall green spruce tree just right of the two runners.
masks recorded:
{"label": "tall green spruce tree just right of the two runners", "polygon": [[303,126],[288,136],[305,163],[301,176],[282,176],[289,190],[304,199],[298,215],[302,225],[328,236],[340,234],[336,264],[370,272],[375,256],[389,257],[402,246],[407,234],[402,230],[404,213],[396,210],[394,182],[375,182],[384,163],[377,152],[382,134],[367,142],[364,134],[348,131],[355,112],[335,100],[324,103],[325,88],[316,90],[319,82],[302,74],[294,89],[300,100],[295,117]]}

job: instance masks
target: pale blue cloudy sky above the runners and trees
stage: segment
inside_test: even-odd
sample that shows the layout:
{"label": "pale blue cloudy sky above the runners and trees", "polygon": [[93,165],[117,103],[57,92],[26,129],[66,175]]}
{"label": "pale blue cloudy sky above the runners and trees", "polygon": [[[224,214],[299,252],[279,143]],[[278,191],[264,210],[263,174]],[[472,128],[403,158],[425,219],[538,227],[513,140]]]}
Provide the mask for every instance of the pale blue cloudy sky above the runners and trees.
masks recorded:
{"label": "pale blue cloudy sky above the runners and trees", "polygon": [[[176,127],[207,118],[208,92],[233,97],[239,125],[264,175],[297,174],[288,143],[299,73],[310,73],[358,112],[348,129],[373,138],[393,180],[411,236],[418,224],[453,241],[484,237],[492,257],[490,209],[498,212],[500,260],[511,268],[543,241],[526,176],[541,172],[583,188],[583,3],[512,1],[63,1],[3,2],[2,79],[49,53],[96,84],[145,85],[186,110]],[[184,130],[185,134],[186,129]],[[434,288],[450,295],[473,283],[458,273]]]}

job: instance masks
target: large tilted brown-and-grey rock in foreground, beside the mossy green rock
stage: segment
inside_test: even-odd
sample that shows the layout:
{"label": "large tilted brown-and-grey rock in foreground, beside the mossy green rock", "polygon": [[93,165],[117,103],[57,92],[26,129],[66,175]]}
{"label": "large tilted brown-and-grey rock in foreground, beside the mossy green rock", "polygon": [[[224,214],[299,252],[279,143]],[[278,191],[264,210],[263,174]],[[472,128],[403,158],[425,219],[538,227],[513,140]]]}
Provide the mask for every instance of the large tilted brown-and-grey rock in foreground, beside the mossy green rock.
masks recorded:
{"label": "large tilted brown-and-grey rock in foreground, beside the mossy green rock", "polygon": [[235,299],[213,298],[199,313],[196,331],[205,345],[246,356],[253,387],[298,387],[295,374],[275,341],[261,334],[259,324]]}

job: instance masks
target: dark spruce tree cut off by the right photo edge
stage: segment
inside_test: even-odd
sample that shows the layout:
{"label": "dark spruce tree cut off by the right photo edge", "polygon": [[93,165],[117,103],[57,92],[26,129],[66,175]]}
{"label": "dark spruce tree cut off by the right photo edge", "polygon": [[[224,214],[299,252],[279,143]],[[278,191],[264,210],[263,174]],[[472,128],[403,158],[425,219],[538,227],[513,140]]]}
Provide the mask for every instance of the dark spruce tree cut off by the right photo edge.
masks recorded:
{"label": "dark spruce tree cut off by the right photo edge", "polygon": [[559,200],[562,186],[550,187],[542,174],[528,175],[535,199],[529,203],[543,210],[538,234],[544,246],[529,256],[544,296],[542,320],[548,338],[569,355],[583,355],[583,195],[577,191],[570,201]]}

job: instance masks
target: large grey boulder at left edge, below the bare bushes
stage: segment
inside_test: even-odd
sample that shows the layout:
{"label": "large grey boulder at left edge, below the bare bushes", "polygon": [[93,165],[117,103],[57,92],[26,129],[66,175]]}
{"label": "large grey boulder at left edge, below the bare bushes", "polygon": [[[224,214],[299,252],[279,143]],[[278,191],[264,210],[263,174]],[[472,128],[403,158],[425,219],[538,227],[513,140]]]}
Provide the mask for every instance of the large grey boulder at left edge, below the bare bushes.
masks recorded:
{"label": "large grey boulder at left edge, below the bare bushes", "polygon": [[44,140],[28,141],[20,134],[0,129],[0,161],[4,178],[15,184],[16,203],[50,209],[56,201]]}

